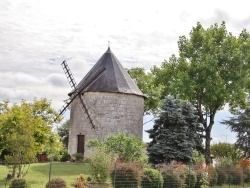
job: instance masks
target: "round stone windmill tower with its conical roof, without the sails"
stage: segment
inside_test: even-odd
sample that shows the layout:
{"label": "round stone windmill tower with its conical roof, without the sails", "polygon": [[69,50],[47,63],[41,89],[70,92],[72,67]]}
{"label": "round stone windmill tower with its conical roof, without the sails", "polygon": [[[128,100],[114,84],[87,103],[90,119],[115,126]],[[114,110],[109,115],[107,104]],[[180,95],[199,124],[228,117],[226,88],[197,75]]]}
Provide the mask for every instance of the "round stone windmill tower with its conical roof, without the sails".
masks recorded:
{"label": "round stone windmill tower with its conical roof, without the sails", "polygon": [[[86,86],[102,67],[105,72]],[[81,101],[71,101],[70,155],[86,154],[88,139],[103,141],[108,135],[121,132],[142,138],[145,96],[110,48],[69,94],[71,98],[77,90]]]}

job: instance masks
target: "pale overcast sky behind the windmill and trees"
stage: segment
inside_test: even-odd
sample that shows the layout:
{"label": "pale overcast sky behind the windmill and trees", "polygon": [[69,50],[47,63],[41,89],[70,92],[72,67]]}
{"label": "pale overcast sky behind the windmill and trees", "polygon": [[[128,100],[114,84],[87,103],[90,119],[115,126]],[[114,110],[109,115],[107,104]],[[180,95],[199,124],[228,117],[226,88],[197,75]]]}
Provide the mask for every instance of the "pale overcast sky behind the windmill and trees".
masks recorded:
{"label": "pale overcast sky behind the windmill and trees", "polygon": [[108,41],[125,68],[159,66],[178,53],[179,36],[188,36],[197,22],[207,28],[225,21],[234,35],[243,28],[250,31],[249,4],[247,0],[1,0],[0,101],[46,97],[58,110],[71,90],[61,68],[63,60],[77,83],[107,50]]}

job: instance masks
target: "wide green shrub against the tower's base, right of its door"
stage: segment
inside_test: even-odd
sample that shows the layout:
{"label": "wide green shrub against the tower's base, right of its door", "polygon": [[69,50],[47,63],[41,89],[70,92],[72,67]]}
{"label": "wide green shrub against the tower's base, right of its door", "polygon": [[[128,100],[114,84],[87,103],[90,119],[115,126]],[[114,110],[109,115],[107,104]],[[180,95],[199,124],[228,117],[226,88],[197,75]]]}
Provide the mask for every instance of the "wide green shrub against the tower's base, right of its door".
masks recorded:
{"label": "wide green shrub against the tower's base, right of its door", "polygon": [[104,147],[107,153],[113,154],[119,160],[134,162],[142,158],[144,143],[141,138],[134,135],[126,136],[125,133],[120,133],[118,135],[109,135],[104,142],[90,139],[87,146]]}

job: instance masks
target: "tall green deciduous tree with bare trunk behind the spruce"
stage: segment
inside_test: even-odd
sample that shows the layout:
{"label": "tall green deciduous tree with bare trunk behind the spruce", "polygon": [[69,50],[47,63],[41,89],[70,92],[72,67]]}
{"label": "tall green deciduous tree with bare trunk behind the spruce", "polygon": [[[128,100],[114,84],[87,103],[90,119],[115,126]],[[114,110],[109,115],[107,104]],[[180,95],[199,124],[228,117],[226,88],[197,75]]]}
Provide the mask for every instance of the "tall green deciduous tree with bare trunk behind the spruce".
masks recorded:
{"label": "tall green deciduous tree with bare trunk behind the spruce", "polygon": [[225,22],[204,29],[193,27],[190,37],[178,41],[179,57],[173,55],[160,68],[153,67],[156,82],[164,86],[162,96],[178,94],[196,106],[205,132],[205,158],[210,163],[210,141],[218,110],[246,107],[249,91],[250,35],[228,33]]}

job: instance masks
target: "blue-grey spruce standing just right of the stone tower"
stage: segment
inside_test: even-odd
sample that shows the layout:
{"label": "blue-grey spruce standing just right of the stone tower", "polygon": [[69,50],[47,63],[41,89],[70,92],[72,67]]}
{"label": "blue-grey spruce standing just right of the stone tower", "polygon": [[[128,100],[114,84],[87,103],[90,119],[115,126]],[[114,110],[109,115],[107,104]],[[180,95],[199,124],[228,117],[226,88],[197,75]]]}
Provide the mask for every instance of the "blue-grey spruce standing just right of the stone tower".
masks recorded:
{"label": "blue-grey spruce standing just right of the stone tower", "polygon": [[153,164],[176,160],[189,162],[201,145],[200,124],[194,106],[178,98],[166,97],[153,129],[148,130],[149,161]]}

